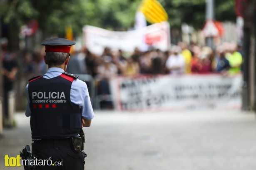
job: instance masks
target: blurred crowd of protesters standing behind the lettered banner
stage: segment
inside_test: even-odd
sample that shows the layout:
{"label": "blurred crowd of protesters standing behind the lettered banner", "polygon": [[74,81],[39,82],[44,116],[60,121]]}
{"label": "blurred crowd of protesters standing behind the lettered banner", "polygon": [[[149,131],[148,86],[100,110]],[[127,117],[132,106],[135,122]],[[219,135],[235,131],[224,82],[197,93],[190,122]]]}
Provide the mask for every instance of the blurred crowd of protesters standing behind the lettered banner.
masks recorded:
{"label": "blurred crowd of protesters standing behind the lettered banner", "polygon": [[[22,68],[19,72],[28,80],[35,75],[43,75],[47,66],[43,59],[44,51],[24,51]],[[97,95],[110,94],[109,79],[114,76],[135,76],[139,74],[237,74],[242,71],[241,44],[224,42],[213,50],[207,46],[184,42],[171,45],[167,51],[150,48],[148,51],[134,49],[127,56],[122,50],[113,51],[105,47],[101,55],[87,49],[71,54],[67,72],[89,74],[95,80]]]}

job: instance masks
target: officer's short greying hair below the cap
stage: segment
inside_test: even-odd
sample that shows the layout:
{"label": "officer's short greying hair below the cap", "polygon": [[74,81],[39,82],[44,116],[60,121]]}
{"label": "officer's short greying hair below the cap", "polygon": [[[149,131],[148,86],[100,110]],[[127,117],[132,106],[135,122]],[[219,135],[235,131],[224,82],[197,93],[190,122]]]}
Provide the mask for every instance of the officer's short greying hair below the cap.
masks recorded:
{"label": "officer's short greying hair below the cap", "polygon": [[48,65],[57,66],[63,64],[68,56],[69,53],[48,52],[45,54],[45,60]]}

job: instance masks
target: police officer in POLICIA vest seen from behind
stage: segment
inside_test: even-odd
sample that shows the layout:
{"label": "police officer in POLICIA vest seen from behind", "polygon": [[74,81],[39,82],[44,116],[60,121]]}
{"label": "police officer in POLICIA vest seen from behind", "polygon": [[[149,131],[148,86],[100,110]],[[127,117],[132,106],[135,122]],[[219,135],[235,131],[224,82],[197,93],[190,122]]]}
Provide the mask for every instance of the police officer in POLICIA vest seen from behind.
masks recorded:
{"label": "police officer in POLICIA vest seen from behind", "polygon": [[25,115],[30,117],[37,170],[84,169],[83,155],[75,150],[73,139],[79,138],[82,127],[90,126],[94,112],[86,83],[65,72],[74,44],[62,38],[42,42],[47,73],[26,86]]}

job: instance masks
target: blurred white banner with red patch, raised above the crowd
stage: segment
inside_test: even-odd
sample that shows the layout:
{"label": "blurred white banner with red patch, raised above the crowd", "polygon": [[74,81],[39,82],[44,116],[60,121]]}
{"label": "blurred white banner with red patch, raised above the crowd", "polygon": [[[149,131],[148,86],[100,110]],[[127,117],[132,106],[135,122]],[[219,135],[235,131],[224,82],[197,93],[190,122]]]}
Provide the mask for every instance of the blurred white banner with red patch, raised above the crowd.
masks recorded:
{"label": "blurred white banner with red patch, raised above the crowd", "polygon": [[169,23],[161,22],[132,31],[116,32],[86,25],[83,28],[83,44],[95,54],[102,54],[105,47],[132,53],[141,44],[166,51],[170,44]]}

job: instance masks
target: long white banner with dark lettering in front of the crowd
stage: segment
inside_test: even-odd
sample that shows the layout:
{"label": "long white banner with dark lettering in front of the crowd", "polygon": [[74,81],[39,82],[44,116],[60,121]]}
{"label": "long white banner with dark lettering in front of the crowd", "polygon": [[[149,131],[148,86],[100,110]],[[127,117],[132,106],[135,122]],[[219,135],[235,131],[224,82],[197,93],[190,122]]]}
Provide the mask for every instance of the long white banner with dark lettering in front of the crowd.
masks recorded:
{"label": "long white banner with dark lettering in front of the crowd", "polygon": [[242,75],[139,75],[110,81],[117,110],[239,109]]}

